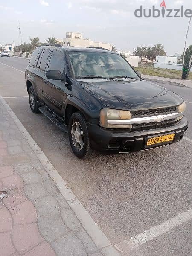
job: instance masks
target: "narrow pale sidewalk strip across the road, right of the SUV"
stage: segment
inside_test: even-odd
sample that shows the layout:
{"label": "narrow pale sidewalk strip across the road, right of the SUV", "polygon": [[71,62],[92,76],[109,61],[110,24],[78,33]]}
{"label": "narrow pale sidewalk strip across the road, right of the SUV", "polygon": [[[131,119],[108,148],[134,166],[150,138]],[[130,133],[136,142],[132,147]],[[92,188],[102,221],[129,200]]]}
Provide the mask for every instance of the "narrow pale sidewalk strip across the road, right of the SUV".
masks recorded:
{"label": "narrow pale sidewalk strip across the road, right of the SUV", "polygon": [[151,82],[179,85],[183,87],[192,88],[192,80],[172,79],[172,78],[166,78],[166,77],[160,77],[160,76],[148,76],[148,75],[142,75],[142,78]]}

